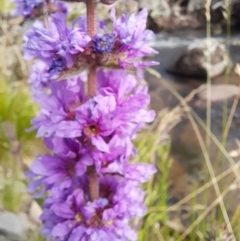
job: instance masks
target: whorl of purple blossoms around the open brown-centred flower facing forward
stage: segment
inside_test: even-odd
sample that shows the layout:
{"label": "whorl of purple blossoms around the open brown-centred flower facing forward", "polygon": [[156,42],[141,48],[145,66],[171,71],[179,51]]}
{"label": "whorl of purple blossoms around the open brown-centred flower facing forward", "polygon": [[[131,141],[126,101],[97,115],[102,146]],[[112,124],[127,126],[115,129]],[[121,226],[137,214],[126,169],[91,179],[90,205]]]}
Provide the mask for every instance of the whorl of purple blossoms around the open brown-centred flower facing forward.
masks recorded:
{"label": "whorl of purple blossoms around the open brown-centred flower facing forward", "polygon": [[137,87],[133,76],[123,71],[100,71],[98,78],[103,86],[100,94],[88,101],[81,80],[75,83],[80,87],[76,93],[64,82],[53,83],[50,95],[36,93],[34,98],[42,109],[32,124],[38,136],[82,136],[91,139],[98,150],[109,152],[107,139],[111,135],[133,136],[143,123],[153,120],[155,113],[146,110],[150,101],[147,89]]}

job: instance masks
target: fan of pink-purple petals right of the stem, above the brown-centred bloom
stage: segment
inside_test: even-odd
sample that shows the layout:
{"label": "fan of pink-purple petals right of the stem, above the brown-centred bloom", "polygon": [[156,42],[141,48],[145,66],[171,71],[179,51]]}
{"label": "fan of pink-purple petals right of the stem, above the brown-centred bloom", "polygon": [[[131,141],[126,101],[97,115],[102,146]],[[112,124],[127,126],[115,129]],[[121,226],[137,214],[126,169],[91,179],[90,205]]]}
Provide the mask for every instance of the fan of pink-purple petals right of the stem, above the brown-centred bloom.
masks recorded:
{"label": "fan of pink-purple petals right of the stem, above the brown-centred bloom", "polygon": [[117,102],[115,121],[124,123],[121,128],[123,132],[131,136],[137,131],[138,125],[153,121],[155,112],[146,110],[150,102],[147,87],[139,86],[132,75],[121,70],[99,71],[98,79],[99,92],[102,95],[115,96]]}

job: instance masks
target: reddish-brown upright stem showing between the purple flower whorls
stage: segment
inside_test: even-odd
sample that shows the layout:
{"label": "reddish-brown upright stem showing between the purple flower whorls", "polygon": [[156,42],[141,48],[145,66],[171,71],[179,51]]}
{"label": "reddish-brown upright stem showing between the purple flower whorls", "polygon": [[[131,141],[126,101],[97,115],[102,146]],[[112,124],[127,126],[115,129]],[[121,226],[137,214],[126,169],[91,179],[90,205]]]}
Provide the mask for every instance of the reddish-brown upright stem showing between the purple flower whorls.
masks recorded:
{"label": "reddish-brown upright stem showing between the purple flower whorls", "polygon": [[[96,0],[85,0],[87,7],[87,32],[90,37],[96,34]],[[92,98],[96,94],[96,73],[97,67],[90,66],[88,72],[88,96]],[[94,201],[99,198],[99,178],[94,166],[89,168],[89,195],[90,200]]]}

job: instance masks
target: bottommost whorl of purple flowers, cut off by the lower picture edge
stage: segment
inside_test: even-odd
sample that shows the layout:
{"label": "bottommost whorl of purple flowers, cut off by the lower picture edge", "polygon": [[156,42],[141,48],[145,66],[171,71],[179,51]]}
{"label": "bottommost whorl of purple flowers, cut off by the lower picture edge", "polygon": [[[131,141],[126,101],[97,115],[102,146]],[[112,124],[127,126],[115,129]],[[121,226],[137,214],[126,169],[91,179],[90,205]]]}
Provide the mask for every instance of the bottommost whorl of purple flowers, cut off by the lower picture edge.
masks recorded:
{"label": "bottommost whorl of purple flowers, cut off by the lower picture edge", "polygon": [[82,189],[61,201],[45,204],[43,233],[53,240],[137,240],[129,221],[142,217],[144,192],[138,183],[122,177],[100,179],[100,197],[90,202]]}

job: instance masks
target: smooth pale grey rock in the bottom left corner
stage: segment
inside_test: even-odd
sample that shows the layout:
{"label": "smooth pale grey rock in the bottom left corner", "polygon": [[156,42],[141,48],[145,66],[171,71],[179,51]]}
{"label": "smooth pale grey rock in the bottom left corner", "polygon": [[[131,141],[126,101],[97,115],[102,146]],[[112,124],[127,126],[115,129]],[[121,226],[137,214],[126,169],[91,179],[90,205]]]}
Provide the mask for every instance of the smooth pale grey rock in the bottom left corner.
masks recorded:
{"label": "smooth pale grey rock in the bottom left corner", "polygon": [[[8,241],[25,241],[27,228],[23,220],[14,213],[0,214],[0,235]],[[2,239],[4,240],[4,239]]]}

